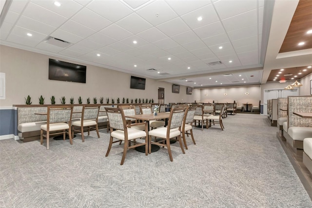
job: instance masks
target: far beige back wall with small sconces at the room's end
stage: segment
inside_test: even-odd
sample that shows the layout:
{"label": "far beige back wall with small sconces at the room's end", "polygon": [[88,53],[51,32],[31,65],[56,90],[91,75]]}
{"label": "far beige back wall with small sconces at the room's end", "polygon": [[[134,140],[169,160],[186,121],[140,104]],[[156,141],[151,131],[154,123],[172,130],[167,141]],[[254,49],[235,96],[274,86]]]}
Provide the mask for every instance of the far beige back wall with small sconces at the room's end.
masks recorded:
{"label": "far beige back wall with small sconces at the room's end", "polygon": [[[233,103],[235,100],[238,105],[248,102],[258,106],[260,101],[260,85],[248,86],[249,95],[245,95],[246,91],[246,86],[208,88],[201,89],[200,97],[201,101],[204,103],[213,103],[213,101],[218,101],[218,103]],[[228,95],[224,96],[225,92]],[[205,96],[205,94],[208,94],[208,96]]]}

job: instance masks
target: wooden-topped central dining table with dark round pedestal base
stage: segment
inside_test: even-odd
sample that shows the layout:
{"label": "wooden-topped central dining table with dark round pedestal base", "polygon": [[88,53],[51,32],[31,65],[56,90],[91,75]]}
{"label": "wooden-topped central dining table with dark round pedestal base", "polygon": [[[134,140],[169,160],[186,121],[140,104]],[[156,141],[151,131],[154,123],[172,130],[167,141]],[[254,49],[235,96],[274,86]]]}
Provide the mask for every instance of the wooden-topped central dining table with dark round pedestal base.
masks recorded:
{"label": "wooden-topped central dining table with dark round pedestal base", "polygon": [[[157,115],[154,115],[154,113],[151,114],[137,114],[137,115],[131,115],[127,116],[127,118],[132,118],[132,119],[137,119],[137,120],[142,120],[142,121],[147,121],[148,124],[148,130],[150,130],[150,121],[155,121],[155,120],[160,120],[160,119],[165,119],[166,125],[168,123],[168,119],[170,117],[170,112],[161,112],[157,113]],[[150,139],[150,137],[148,137]],[[158,145],[153,145],[151,146],[151,152],[156,152],[159,150]],[[145,146],[138,146],[136,147],[136,150],[139,152],[144,152],[145,153]]]}

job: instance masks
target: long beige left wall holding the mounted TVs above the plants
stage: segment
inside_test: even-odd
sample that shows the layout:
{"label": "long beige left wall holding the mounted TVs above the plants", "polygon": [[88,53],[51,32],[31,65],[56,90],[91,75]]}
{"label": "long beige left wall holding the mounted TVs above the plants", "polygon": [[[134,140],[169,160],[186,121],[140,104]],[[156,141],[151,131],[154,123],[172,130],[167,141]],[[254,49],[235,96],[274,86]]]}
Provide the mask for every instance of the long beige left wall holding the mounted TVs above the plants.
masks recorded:
{"label": "long beige left wall holding the mounted TVs above the plants", "polygon": [[56,104],[60,104],[60,98],[65,96],[66,104],[74,97],[75,104],[78,104],[78,97],[81,96],[83,103],[90,98],[98,99],[104,97],[115,99],[119,97],[120,103],[124,97],[129,99],[154,99],[157,102],[157,88],[165,88],[165,103],[187,102],[192,103],[198,100],[200,91],[194,89],[193,95],[186,94],[186,86],[180,86],[180,93],[172,93],[172,83],[156,82],[153,79],[146,79],[145,90],[130,89],[131,74],[114,71],[83,62],[59,59],[60,61],[78,63],[87,66],[86,83],[68,83],[62,81],[48,80],[49,58],[58,57],[38,54],[17,48],[0,45],[0,72],[5,73],[6,98],[0,100],[0,106],[12,106],[13,104],[25,104],[28,95],[32,98],[32,104],[39,104],[39,97],[45,98],[45,104],[50,104],[52,95],[56,98]]}

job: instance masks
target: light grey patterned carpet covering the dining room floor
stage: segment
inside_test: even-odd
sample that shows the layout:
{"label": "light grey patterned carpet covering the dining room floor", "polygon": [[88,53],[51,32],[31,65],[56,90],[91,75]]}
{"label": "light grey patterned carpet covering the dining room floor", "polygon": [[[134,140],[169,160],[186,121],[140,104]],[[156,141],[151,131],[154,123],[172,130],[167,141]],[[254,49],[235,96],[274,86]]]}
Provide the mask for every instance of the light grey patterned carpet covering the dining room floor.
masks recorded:
{"label": "light grey patterned carpet covering the dining room floor", "polygon": [[[311,208],[312,201],[259,114],[229,115],[195,128],[196,145],[172,145],[145,156],[122,146],[108,157],[109,133],[69,141],[0,141],[1,208]],[[85,133],[86,135],[86,133]]]}

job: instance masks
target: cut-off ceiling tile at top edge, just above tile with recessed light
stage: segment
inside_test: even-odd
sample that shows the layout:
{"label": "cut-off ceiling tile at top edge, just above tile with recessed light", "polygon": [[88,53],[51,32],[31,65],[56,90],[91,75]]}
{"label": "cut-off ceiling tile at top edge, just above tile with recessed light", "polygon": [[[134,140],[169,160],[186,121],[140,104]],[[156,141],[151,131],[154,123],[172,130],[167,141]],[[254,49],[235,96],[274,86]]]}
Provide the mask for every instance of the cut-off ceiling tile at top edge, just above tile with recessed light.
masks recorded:
{"label": "cut-off ceiling tile at top edge, just above tile with recessed light", "polygon": [[166,0],[166,2],[175,10],[178,15],[183,15],[189,13],[195,9],[204,7],[207,4],[210,4],[210,1],[206,0]]}

